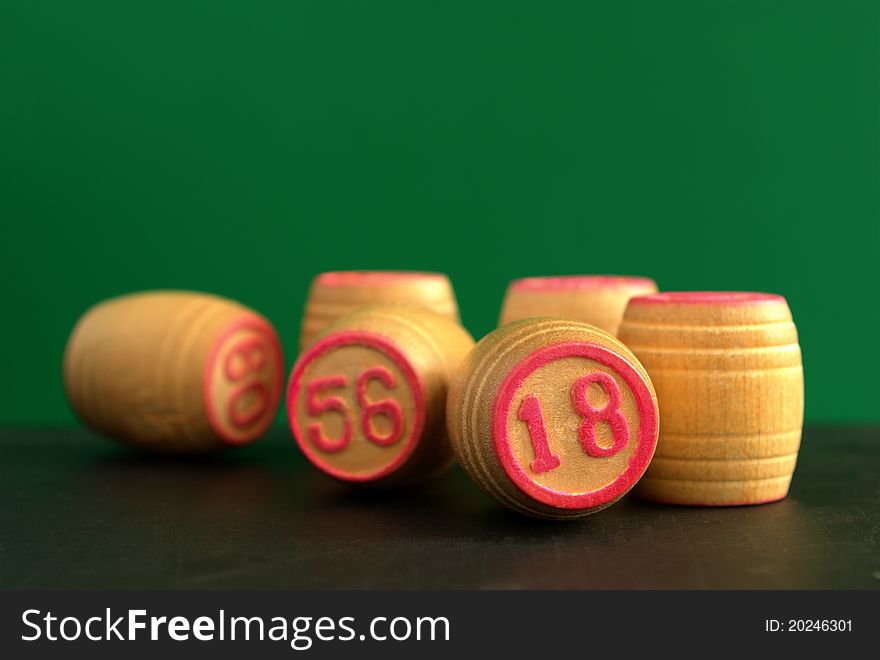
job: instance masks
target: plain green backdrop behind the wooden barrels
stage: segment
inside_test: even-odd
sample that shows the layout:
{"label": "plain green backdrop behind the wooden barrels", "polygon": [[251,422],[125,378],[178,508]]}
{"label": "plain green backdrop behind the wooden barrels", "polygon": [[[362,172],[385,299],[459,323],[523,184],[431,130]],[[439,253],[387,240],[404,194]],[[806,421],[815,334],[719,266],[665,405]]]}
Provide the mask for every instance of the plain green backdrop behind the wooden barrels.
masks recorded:
{"label": "plain green backdrop behind the wooden barrels", "polygon": [[4,2],[0,422],[68,423],[92,303],[317,271],[785,295],[810,421],[878,420],[876,1]]}

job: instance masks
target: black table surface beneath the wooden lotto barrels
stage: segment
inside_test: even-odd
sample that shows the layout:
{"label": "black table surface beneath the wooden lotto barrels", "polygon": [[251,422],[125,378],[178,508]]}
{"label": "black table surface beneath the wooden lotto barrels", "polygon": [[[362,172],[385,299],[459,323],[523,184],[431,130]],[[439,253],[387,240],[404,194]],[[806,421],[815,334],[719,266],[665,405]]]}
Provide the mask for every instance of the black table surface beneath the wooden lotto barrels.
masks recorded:
{"label": "black table surface beneath the wooden lotto barrels", "polygon": [[812,427],[789,497],[633,497],[573,522],[511,513],[455,468],[351,488],[284,429],[162,458],[83,429],[0,430],[3,588],[878,588],[880,427]]}

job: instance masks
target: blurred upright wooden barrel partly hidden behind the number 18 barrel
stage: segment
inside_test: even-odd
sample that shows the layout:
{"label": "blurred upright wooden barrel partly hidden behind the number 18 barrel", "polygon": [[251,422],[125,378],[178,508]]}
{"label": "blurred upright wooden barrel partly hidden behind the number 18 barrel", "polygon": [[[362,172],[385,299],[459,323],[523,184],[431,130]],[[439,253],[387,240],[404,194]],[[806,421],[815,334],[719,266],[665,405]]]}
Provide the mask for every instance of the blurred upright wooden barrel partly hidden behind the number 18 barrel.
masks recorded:
{"label": "blurred upright wooden barrel partly hidden behind the number 18 barrel", "polygon": [[647,277],[527,277],[507,287],[499,325],[534,316],[559,316],[616,335],[629,299],[656,291],[657,284]]}

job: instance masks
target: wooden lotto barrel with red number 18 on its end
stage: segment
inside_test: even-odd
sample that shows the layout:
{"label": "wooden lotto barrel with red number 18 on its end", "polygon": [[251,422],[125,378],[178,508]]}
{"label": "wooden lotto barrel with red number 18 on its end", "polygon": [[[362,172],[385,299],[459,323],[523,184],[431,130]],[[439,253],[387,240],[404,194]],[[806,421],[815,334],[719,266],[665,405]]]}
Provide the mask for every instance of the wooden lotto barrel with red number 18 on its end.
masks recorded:
{"label": "wooden lotto barrel with red number 18 on its end", "polygon": [[447,424],[459,462],[489,495],[543,518],[576,518],[644,474],[659,428],[651,379],[609,333],[533,318],[480,341],[453,382]]}

